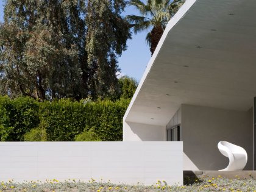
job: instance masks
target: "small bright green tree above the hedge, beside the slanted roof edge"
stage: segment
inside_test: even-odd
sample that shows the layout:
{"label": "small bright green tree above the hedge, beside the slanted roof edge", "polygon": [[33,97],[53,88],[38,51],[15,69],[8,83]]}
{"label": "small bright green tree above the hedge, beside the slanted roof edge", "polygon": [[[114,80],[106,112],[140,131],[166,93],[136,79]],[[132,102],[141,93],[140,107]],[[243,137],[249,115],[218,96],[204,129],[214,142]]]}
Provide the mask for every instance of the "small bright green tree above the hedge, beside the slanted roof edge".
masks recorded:
{"label": "small bright green tree above the hedge, beside the slanted roof edge", "polygon": [[118,82],[120,87],[120,98],[131,99],[138,87],[137,80],[123,76]]}

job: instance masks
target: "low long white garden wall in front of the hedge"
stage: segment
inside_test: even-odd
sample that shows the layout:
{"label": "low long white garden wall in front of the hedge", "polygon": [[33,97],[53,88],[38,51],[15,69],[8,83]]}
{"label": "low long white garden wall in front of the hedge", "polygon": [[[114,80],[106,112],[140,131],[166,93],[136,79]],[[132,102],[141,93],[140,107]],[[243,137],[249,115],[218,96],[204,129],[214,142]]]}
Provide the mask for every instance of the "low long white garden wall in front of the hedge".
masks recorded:
{"label": "low long white garden wall in front of the hedge", "polygon": [[0,142],[0,181],[182,184],[181,141]]}

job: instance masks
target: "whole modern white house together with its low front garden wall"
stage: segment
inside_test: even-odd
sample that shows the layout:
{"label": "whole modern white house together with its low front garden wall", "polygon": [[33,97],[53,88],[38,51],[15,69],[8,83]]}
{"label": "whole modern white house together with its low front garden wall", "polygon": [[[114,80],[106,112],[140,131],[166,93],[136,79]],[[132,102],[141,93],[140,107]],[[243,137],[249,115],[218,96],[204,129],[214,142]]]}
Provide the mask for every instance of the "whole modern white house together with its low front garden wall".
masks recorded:
{"label": "whole modern white house together with its low front garden wall", "polygon": [[255,0],[187,0],[127,108],[124,142],[0,142],[0,180],[181,185],[183,170],[227,166],[223,140],[255,169],[255,10]]}

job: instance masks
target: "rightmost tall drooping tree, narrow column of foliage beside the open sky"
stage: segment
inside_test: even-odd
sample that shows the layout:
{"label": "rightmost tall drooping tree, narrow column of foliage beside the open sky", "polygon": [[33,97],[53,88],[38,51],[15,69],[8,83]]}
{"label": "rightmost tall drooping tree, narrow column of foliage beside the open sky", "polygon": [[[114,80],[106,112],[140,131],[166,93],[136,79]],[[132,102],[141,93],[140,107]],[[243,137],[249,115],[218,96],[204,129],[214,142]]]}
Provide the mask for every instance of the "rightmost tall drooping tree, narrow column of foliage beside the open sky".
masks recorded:
{"label": "rightmost tall drooping tree, narrow column of foliage beside the open sky", "polygon": [[[87,46],[88,65],[97,78],[91,78],[93,96],[104,98],[118,89],[116,55],[126,49],[130,38],[129,23],[120,16],[125,3],[122,0],[94,0],[87,3]],[[98,19],[96,19],[98,18]],[[107,65],[106,65],[107,64]]]}

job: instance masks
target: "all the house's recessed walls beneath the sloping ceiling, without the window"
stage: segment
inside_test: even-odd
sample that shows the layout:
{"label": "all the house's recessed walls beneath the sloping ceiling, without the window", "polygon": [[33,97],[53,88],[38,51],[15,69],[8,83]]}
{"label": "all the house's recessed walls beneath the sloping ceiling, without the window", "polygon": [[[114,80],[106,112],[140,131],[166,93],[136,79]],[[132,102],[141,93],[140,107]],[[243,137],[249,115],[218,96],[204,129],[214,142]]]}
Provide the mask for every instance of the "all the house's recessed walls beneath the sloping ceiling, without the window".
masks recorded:
{"label": "all the house's recessed walls beneath the sloping ceiling, without the window", "polygon": [[219,170],[229,159],[217,148],[229,141],[246,149],[246,170],[252,170],[252,108],[247,112],[182,104],[168,124],[154,126],[124,121],[124,141],[166,141],[166,129],[180,124],[183,170]]}

